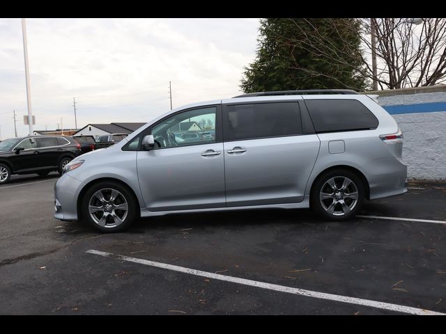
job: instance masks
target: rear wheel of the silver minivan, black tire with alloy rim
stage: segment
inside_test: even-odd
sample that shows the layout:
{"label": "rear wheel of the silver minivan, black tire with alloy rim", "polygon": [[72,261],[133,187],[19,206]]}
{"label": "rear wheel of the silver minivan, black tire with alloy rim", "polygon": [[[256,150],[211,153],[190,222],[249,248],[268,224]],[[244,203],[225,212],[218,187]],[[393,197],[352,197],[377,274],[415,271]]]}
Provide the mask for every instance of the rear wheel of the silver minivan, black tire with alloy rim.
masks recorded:
{"label": "rear wheel of the silver minivan, black tire with alloy rim", "polygon": [[[335,189],[329,184],[332,183],[332,179]],[[351,184],[348,184],[346,189],[341,189],[346,179],[346,183],[350,180]],[[354,202],[355,190],[357,193],[356,202]],[[310,194],[310,206],[322,218],[330,221],[344,221],[360,211],[364,204],[364,198],[364,184],[360,177],[351,170],[333,169],[319,176],[314,182]],[[332,210],[333,212],[331,212]]]}

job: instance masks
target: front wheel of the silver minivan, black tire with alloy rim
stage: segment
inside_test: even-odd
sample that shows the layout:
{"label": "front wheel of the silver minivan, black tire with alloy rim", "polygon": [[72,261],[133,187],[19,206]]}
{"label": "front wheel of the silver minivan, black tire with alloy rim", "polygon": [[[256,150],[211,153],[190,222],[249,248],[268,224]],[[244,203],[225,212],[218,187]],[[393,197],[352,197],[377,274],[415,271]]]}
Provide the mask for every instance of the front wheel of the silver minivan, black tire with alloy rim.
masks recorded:
{"label": "front wheel of the silver minivan, black tire with alloy rim", "polygon": [[[113,190],[117,191],[119,195],[116,196],[114,201],[110,201],[109,196],[112,194]],[[98,193],[98,191],[101,191],[105,201],[101,201],[95,196],[95,193]],[[107,207],[105,204],[107,202],[109,205],[112,205],[112,207],[107,208],[108,210],[112,210],[111,212],[104,209]],[[125,203],[127,203],[127,214],[124,214],[124,209],[114,209],[114,207],[121,207],[125,205]],[[102,210],[90,214],[90,204],[94,207],[102,207]],[[94,184],[84,193],[84,197],[82,198],[82,216],[91,226],[93,226],[93,228],[102,233],[123,232],[124,230],[127,230],[137,218],[137,209],[137,200],[134,198],[131,191],[128,190],[127,187],[112,181],[103,181]],[[102,216],[106,216],[105,224],[102,222],[104,225],[100,225]],[[116,223],[116,216],[118,216],[122,223]]]}

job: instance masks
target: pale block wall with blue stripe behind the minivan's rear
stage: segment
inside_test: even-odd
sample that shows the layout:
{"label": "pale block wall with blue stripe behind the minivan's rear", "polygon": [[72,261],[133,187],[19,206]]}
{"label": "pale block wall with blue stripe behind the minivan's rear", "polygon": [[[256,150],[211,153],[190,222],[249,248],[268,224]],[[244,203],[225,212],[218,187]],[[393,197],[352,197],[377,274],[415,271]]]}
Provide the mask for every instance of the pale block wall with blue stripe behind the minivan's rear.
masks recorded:
{"label": "pale block wall with blue stripe behind the minivan's rear", "polygon": [[367,92],[397,120],[408,177],[446,180],[446,86]]}

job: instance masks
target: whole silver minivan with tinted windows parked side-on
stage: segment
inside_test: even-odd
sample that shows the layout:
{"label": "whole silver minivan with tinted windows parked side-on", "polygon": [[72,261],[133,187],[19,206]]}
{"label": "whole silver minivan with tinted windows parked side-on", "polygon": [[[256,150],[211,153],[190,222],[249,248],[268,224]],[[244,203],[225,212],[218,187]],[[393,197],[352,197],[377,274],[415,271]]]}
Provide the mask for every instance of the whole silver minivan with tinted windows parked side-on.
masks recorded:
{"label": "whole silver minivan with tinted windows parked side-on", "polygon": [[[212,132],[179,141],[183,132]],[[118,232],[139,217],[312,207],[354,216],[365,199],[405,193],[397,122],[353,90],[263,92],[190,104],[121,142],[73,159],[55,217]]]}

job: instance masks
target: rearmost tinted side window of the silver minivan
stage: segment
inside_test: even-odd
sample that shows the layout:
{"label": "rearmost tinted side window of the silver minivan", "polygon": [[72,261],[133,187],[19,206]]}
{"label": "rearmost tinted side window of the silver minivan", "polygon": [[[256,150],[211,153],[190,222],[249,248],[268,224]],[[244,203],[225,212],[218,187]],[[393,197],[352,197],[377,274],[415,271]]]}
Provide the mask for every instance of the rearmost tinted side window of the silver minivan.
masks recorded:
{"label": "rearmost tinted side window of the silver minivan", "polygon": [[378,119],[357,100],[305,100],[316,132],[376,129]]}

